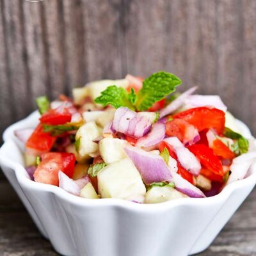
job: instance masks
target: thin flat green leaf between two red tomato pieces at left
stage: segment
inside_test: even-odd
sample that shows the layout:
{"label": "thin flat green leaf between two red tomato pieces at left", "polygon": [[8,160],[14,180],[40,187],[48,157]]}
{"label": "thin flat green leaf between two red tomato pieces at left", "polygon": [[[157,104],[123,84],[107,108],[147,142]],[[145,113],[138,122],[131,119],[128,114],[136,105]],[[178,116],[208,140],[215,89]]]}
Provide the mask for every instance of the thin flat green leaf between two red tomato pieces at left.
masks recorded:
{"label": "thin flat green leaf between two red tomato pieces at left", "polygon": [[78,130],[83,125],[83,122],[67,123],[61,125],[47,125],[43,124],[44,132],[51,132],[52,136],[59,136],[64,132]]}

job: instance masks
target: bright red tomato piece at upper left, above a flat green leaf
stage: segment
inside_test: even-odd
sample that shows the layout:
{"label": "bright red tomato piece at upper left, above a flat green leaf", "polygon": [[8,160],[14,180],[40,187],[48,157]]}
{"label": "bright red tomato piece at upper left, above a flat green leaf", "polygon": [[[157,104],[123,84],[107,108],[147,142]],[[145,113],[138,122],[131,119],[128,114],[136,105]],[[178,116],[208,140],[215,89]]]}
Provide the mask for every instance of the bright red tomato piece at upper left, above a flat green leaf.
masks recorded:
{"label": "bright red tomato piece at upper left, above a flat green leaf", "polygon": [[49,125],[60,125],[70,122],[72,115],[69,113],[67,108],[64,108],[61,113],[55,109],[50,109],[47,113],[44,113],[39,120],[42,124]]}

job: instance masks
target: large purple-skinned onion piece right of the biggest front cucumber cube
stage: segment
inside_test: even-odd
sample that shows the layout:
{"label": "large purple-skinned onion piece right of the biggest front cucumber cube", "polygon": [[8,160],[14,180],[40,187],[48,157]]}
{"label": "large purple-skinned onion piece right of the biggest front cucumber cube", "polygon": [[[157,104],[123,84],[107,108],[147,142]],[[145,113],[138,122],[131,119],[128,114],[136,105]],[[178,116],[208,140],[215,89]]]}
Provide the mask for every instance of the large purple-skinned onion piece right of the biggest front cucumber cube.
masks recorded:
{"label": "large purple-skinned onion piece right of the biggest front cucumber cube", "polygon": [[124,150],[140,172],[145,184],[172,180],[170,170],[161,156],[132,146],[126,146]]}

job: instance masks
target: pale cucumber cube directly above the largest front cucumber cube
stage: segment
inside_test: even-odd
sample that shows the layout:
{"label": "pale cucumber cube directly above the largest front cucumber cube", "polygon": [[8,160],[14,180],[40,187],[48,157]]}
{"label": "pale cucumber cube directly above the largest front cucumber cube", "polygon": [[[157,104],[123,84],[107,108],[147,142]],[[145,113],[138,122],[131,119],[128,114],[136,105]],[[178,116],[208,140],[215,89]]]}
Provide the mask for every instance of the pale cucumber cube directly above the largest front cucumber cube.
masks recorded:
{"label": "pale cucumber cube directly above the largest front cucumber cube", "polygon": [[105,163],[111,164],[124,159],[124,146],[127,141],[117,138],[104,138],[99,142],[100,155]]}

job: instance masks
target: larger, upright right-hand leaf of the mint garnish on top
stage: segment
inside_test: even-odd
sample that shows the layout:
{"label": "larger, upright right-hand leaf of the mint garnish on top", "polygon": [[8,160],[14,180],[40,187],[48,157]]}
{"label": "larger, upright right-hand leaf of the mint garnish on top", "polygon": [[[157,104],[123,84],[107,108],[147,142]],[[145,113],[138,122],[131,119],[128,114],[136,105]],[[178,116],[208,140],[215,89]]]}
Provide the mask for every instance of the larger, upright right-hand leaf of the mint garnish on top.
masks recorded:
{"label": "larger, upright right-hand leaf of the mint garnish on top", "polygon": [[159,71],[152,74],[143,81],[143,86],[137,95],[136,109],[147,110],[155,102],[174,92],[181,83],[179,77],[168,72]]}

